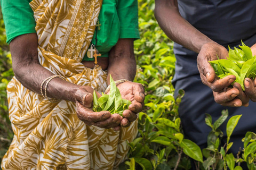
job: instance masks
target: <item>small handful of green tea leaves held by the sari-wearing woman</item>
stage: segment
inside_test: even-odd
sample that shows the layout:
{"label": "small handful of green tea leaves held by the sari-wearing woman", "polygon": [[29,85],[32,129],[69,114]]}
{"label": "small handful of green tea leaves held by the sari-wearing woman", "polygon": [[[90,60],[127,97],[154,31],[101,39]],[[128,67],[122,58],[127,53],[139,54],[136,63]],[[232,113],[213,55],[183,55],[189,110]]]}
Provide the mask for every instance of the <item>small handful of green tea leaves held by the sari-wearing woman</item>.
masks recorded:
{"label": "small handful of green tea leaves held by the sari-wearing woman", "polygon": [[122,99],[119,89],[116,87],[116,83],[110,75],[110,92],[109,95],[102,93],[102,96],[98,98],[95,90],[93,92],[93,108],[94,112],[109,111],[111,114],[118,113],[123,116],[125,109],[128,109],[131,104],[130,100]]}

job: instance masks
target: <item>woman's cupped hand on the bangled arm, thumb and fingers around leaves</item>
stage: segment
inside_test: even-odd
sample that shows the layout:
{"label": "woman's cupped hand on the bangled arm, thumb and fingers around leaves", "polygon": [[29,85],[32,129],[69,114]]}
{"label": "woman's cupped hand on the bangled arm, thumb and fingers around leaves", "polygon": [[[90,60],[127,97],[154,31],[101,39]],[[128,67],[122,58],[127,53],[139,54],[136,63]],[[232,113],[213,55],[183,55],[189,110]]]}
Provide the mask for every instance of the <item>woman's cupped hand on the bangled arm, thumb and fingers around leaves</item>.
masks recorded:
{"label": "woman's cupped hand on the bangled arm, thumb and fingers around leaves", "polygon": [[[98,97],[101,95],[96,92]],[[99,128],[115,128],[119,130],[118,125],[123,120],[119,114],[111,115],[108,111],[93,112],[93,89],[89,86],[82,86],[75,92],[76,113],[79,120],[86,125],[94,125]]]}

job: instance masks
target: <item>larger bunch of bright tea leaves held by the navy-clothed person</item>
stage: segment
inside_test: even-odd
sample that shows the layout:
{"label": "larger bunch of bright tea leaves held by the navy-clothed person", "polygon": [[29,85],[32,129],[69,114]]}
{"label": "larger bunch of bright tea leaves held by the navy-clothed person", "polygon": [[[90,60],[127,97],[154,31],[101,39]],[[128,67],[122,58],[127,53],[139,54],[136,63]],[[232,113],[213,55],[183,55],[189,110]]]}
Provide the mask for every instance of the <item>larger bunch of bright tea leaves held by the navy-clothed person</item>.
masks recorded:
{"label": "larger bunch of bright tea leaves held by the navy-clothed person", "polygon": [[235,75],[236,80],[241,84],[244,91],[244,79],[256,77],[256,56],[252,56],[252,50],[246,46],[242,41],[241,49],[228,50],[228,60],[215,60],[211,61],[215,73],[220,79],[225,78],[227,75]]}

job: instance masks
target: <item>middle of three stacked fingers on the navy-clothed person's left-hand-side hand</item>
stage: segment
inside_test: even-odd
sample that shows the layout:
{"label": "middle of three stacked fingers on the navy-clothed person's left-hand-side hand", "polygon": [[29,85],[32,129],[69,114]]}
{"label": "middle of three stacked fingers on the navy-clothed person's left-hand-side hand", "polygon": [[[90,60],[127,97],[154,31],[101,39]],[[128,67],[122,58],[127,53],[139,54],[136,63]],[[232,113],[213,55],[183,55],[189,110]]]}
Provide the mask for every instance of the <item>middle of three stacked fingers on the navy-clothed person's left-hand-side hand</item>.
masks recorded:
{"label": "middle of three stacked fingers on the navy-clothed person's left-hand-side hand", "polygon": [[233,100],[238,95],[239,95],[239,90],[237,90],[236,88],[233,88],[228,91],[214,92],[214,100],[218,104],[223,104]]}

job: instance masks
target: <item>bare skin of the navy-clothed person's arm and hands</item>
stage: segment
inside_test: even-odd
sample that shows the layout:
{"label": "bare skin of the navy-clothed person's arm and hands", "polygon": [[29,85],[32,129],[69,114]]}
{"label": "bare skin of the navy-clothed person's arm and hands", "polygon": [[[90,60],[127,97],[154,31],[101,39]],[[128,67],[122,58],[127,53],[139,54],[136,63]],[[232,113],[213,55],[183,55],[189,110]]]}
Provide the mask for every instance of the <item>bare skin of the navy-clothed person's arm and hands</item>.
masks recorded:
{"label": "bare skin of the navy-clothed person's arm and hands", "polygon": [[[155,16],[158,24],[173,40],[194,52],[198,53],[197,67],[202,82],[213,91],[214,100],[223,106],[240,107],[248,106],[249,100],[256,101],[256,89],[252,80],[245,79],[245,91],[239,83],[234,83],[233,88],[228,88],[236,79],[229,75],[218,79],[209,61],[227,59],[228,51],[225,47],[215,43],[209,37],[198,31],[193,25],[182,18],[179,13],[177,0],[156,0]],[[171,22],[170,22],[171,19]],[[256,52],[256,46],[252,46]],[[255,54],[255,53],[254,53]]]}

